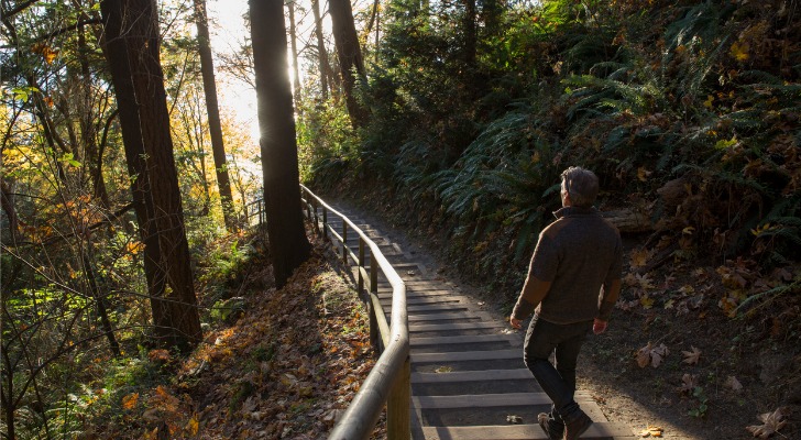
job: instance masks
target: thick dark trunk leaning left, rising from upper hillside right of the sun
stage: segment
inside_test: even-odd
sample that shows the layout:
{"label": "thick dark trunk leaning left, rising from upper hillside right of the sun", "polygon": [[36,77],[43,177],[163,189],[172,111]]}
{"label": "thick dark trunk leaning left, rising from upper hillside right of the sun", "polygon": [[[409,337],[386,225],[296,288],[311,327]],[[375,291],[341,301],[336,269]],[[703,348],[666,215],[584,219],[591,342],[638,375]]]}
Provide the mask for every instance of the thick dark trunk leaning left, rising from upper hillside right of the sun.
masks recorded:
{"label": "thick dark trunk leaning left, rising from upper hillside right of the sun", "polygon": [[[365,109],[355,97],[356,76],[362,80],[366,77],[364,73],[364,61],[362,50],[359,45],[356,26],[353,23],[353,10],[350,0],[330,0],[329,12],[333,40],[337,44],[340,69],[342,73],[342,86],[344,99],[354,128],[363,127],[367,122],[367,109]],[[355,73],[353,72],[355,70]]]}

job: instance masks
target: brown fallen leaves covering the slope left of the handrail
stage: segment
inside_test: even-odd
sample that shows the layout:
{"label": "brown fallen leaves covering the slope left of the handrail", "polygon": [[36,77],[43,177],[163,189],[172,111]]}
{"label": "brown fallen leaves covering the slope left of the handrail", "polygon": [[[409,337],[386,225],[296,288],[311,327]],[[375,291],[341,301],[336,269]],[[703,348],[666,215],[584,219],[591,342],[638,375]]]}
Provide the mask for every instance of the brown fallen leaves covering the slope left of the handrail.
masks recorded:
{"label": "brown fallen leaves covering the slope left of the handrail", "polygon": [[[318,244],[284,288],[244,295],[242,317],[207,333],[173,383],[122,398],[128,419],[139,422],[106,433],[120,439],[326,437],[375,355],[365,308],[325,252]],[[382,416],[375,435],[384,432]]]}

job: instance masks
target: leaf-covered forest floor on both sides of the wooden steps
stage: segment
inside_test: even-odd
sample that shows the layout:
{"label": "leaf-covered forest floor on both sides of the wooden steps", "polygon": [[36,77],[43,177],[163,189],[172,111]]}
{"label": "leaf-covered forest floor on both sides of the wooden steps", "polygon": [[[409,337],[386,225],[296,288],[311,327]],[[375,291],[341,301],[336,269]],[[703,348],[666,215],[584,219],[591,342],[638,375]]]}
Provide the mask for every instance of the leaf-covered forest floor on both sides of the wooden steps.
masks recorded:
{"label": "leaf-covered forest floor on both sides of the wooden steps", "polygon": [[[442,260],[439,238],[398,227],[389,217],[361,217],[460,293],[485,301],[498,319],[507,314],[511,305]],[[323,243],[315,243],[310,261],[282,289],[271,286],[266,243],[257,237],[250,243],[257,256],[229,283],[230,296],[241,300],[235,314],[212,323],[188,359],[151,351],[160,373],[123,396],[119,411],[91,422],[81,439],[326,437],[375,361],[366,314],[349,272]],[[695,275],[672,279],[690,267],[662,271],[652,279],[696,283]],[[676,308],[660,302],[617,310],[607,332],[591,337],[583,349],[580,388],[607,419],[635,435],[654,427],[666,439],[747,439],[748,426],[776,428],[783,421],[773,438],[801,438],[801,346],[797,336],[782,332],[782,317],[732,320],[709,301],[677,314],[684,300]],[[633,302],[638,300],[623,304]],[[797,310],[798,300],[786,307]],[[780,419],[758,419],[776,417],[777,410]],[[384,432],[381,421],[373,437]]]}

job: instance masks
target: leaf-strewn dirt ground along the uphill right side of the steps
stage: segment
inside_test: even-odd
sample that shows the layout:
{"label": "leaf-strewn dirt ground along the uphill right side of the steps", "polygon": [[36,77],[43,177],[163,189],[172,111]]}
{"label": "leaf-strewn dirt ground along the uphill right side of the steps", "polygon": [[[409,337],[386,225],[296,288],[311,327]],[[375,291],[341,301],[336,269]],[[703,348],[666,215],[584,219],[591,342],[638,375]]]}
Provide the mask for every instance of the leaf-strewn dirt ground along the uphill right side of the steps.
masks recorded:
{"label": "leaf-strewn dirt ground along the uphill right side of the steps", "polygon": [[[500,316],[511,310],[442,257],[442,237],[409,228],[392,215],[367,215],[360,202],[343,204],[361,210],[363,220],[463,294],[494,305]],[[624,237],[624,245],[628,255],[641,240]],[[634,297],[634,287],[624,288],[608,330],[591,336],[582,350],[579,387],[592,394],[611,421],[637,436],[648,437],[652,428],[650,433],[677,440],[801,439],[801,346],[798,322],[786,322],[798,319],[801,298],[777,306],[789,311],[784,316],[762,310],[761,318],[732,319],[710,299],[709,293],[722,289],[714,285],[714,267],[684,262],[629,276],[629,282],[645,278],[672,287],[655,304]],[[692,295],[693,289],[707,294]]]}

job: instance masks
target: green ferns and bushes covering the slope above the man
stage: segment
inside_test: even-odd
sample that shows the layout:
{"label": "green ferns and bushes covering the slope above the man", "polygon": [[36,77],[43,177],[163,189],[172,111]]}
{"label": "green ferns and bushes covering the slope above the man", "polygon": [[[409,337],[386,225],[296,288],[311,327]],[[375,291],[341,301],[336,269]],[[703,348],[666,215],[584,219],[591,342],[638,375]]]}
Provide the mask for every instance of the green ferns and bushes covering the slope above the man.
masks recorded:
{"label": "green ferns and bushes covering the slope above the man", "polygon": [[[600,176],[605,209],[641,200],[661,232],[725,237],[695,256],[795,261],[801,46],[790,35],[801,30],[787,11],[515,2],[478,18],[474,66],[461,57],[463,14],[391,2],[363,88],[373,119],[350,168],[404,209],[437,212],[464,267],[519,270],[570,165]],[[667,205],[657,189],[679,178],[687,197]]]}

